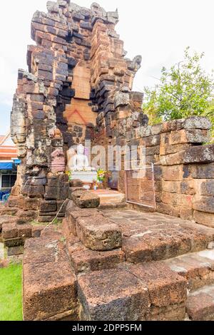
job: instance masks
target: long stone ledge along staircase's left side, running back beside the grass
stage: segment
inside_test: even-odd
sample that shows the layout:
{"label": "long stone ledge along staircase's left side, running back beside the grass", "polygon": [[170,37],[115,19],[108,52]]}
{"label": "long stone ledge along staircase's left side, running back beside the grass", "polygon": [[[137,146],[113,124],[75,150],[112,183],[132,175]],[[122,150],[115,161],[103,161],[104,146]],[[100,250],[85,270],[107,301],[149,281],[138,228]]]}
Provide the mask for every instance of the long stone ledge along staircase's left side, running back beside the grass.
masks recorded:
{"label": "long stone ledge along staircase's left side, running back beside the grass", "polygon": [[78,320],[76,275],[61,234],[28,239],[23,260],[25,321]]}

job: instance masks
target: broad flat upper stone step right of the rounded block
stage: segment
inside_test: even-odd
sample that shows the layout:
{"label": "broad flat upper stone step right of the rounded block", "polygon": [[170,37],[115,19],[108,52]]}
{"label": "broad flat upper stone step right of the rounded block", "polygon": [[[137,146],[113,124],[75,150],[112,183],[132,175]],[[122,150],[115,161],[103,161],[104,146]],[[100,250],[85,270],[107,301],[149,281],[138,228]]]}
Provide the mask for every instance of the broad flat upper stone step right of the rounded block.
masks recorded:
{"label": "broad flat upper stone step right of the rounded block", "polygon": [[159,213],[108,210],[103,215],[123,234],[127,262],[160,261],[200,252],[213,244],[214,229]]}

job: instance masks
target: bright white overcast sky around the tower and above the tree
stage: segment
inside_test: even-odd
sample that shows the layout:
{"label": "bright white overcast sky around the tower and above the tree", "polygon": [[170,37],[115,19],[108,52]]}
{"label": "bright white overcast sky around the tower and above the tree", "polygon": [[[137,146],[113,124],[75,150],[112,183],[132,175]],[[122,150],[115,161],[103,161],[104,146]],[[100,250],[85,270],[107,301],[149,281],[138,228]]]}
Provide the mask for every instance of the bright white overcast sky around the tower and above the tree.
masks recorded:
{"label": "bright white overcast sky around the tower and above the tree", "polygon": [[[76,0],[90,7],[93,0]],[[213,0],[99,0],[107,11],[118,8],[117,32],[125,42],[128,57],[143,56],[134,83],[136,91],[154,86],[161,68],[183,58],[190,46],[205,52],[203,67],[214,68]],[[31,41],[31,17],[36,10],[46,11],[46,0],[1,1],[0,7],[0,134],[9,129],[17,70],[26,67],[26,46]]]}

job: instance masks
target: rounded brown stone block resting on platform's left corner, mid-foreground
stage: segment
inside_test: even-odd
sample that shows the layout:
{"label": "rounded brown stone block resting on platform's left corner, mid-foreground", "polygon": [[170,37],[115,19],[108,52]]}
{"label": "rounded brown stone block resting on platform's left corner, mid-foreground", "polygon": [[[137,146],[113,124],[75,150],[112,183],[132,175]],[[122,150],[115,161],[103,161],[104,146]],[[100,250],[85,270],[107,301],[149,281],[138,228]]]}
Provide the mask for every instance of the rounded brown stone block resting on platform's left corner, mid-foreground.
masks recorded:
{"label": "rounded brown stone block resting on platform's left corner, mid-foreground", "polygon": [[78,218],[76,232],[88,249],[112,250],[120,248],[122,244],[121,230],[103,215]]}

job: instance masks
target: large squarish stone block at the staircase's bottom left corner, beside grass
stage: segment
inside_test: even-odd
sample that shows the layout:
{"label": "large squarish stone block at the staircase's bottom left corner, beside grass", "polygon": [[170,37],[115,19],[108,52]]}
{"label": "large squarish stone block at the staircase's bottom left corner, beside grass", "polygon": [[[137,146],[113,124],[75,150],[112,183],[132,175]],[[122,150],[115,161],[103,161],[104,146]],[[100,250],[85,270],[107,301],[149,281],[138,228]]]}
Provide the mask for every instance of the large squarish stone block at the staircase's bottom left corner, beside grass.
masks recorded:
{"label": "large squarish stone block at the staircase's bottom left corner, beside grass", "polygon": [[24,264],[23,314],[25,321],[41,321],[76,311],[76,276],[69,262]]}

